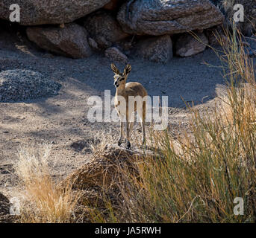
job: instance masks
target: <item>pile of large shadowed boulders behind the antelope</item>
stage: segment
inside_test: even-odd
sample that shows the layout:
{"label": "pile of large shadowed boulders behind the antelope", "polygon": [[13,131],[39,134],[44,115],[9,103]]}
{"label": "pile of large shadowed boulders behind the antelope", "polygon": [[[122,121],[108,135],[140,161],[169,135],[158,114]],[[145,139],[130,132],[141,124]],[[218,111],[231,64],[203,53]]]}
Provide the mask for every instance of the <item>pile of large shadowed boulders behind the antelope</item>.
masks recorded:
{"label": "pile of large shadowed boulders behind the antelope", "polygon": [[[12,3],[1,1],[0,19],[9,19]],[[72,58],[102,51],[121,62],[138,56],[165,63],[173,54],[199,54],[208,43],[216,44],[209,29],[218,29],[225,19],[221,10],[228,11],[225,1],[213,0],[17,0],[16,4],[22,10],[20,25],[28,26],[28,38],[40,48]],[[255,19],[254,10],[246,11]]]}

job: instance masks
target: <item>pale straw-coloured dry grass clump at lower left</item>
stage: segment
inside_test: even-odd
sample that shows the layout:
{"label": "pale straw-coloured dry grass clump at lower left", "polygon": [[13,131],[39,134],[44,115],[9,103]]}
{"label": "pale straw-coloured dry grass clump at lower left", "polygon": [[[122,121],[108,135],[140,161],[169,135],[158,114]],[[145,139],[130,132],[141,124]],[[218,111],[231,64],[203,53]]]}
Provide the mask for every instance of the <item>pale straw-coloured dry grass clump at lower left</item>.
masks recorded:
{"label": "pale straw-coloured dry grass clump at lower left", "polygon": [[25,190],[21,222],[73,222],[73,213],[78,201],[71,184],[57,187],[49,171],[51,147],[41,149],[22,147],[16,173]]}

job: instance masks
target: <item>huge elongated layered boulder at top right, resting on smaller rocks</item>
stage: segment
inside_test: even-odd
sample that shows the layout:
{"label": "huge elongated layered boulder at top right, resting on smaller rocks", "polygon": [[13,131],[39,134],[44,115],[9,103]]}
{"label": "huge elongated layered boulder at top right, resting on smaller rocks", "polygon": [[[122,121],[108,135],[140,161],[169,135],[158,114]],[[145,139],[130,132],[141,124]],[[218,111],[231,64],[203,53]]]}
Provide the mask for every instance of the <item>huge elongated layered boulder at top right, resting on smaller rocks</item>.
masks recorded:
{"label": "huge elongated layered boulder at top right, resting on smaller rocks", "polygon": [[117,19],[127,33],[159,36],[210,28],[224,16],[208,0],[130,0]]}

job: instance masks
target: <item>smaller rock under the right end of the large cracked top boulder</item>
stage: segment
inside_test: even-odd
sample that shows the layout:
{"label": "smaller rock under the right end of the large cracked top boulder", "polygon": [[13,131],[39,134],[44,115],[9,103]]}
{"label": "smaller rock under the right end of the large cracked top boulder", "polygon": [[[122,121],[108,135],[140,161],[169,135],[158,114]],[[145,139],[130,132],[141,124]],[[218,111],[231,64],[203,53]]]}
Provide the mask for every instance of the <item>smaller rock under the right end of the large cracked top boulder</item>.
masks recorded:
{"label": "smaller rock under the right end of the large cracked top boulder", "polygon": [[205,51],[208,39],[204,33],[197,33],[196,39],[190,33],[184,33],[178,37],[175,48],[176,54],[180,57],[191,57]]}

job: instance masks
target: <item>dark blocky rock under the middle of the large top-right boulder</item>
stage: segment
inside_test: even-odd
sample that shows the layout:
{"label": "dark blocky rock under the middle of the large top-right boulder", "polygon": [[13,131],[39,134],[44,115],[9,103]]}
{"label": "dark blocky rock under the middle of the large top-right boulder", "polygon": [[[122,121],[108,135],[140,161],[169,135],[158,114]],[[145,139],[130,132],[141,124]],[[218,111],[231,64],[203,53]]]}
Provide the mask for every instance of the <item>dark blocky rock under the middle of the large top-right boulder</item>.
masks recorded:
{"label": "dark blocky rock under the middle of the large top-right boulder", "polygon": [[169,35],[164,35],[140,40],[135,46],[135,54],[153,62],[168,62],[173,55],[172,39]]}

